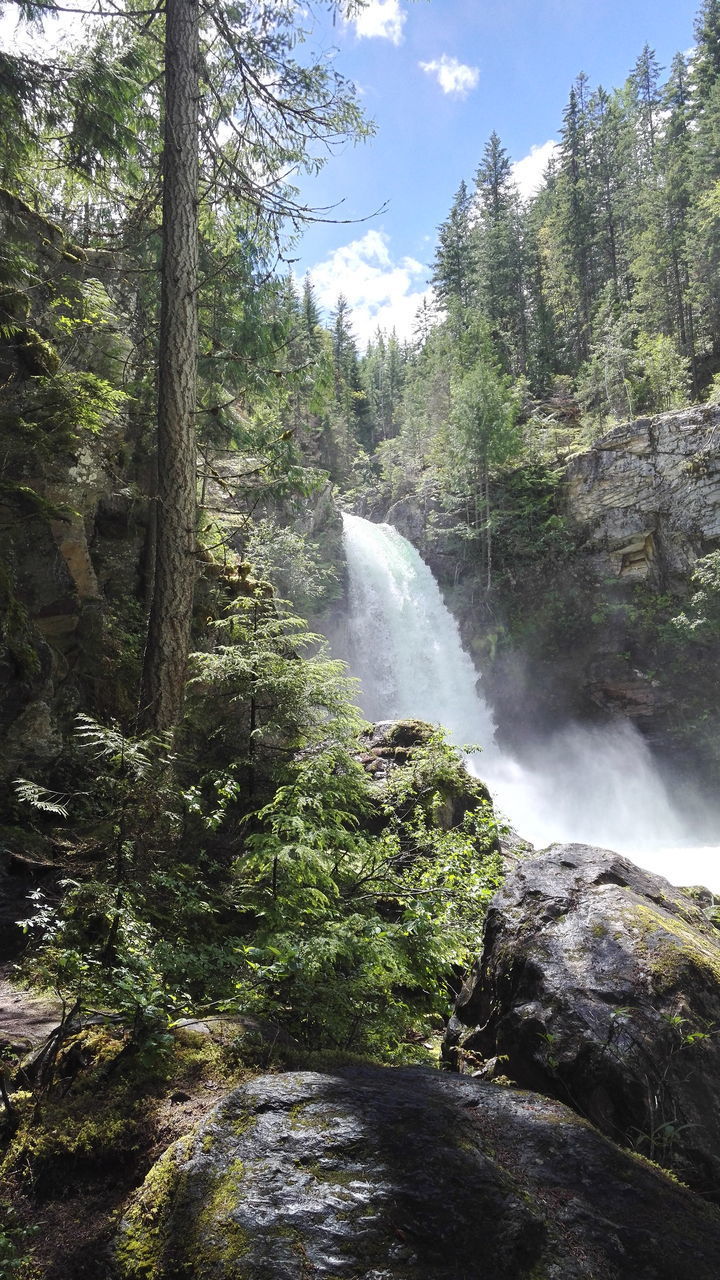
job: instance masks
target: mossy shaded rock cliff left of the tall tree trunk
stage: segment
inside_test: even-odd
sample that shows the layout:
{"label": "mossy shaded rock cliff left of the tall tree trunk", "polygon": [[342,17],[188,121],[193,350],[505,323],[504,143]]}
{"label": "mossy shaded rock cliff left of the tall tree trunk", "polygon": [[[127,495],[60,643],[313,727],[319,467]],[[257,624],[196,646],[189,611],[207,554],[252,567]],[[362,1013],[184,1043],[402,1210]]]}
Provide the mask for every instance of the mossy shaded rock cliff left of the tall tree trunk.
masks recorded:
{"label": "mossy shaded rock cliff left of the tall tree trunk", "polygon": [[[111,602],[137,593],[147,509],[127,399],[129,339],[111,255],[0,191],[0,780],[45,765],[61,724],[101,707],[127,660]],[[32,285],[22,266],[33,264]],[[15,268],[13,268],[15,264]],[[117,620],[115,620],[117,622]],[[102,641],[105,635],[105,641]]]}

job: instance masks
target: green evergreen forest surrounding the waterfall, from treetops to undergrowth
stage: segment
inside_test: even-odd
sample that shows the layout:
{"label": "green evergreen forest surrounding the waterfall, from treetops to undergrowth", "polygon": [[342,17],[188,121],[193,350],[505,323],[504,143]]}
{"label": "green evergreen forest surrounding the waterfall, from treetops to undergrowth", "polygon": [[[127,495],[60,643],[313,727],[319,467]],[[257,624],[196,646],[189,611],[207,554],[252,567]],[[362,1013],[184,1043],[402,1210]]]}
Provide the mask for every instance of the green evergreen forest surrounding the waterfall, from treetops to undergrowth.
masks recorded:
{"label": "green evergreen forest surrounding the waterfall, from treetops to undergrowth", "polygon": [[[215,1276],[104,1252],[168,1100],[438,1065],[518,837],[437,726],[363,719],[323,639],[338,512],[429,511],[502,654],[518,577],[577,550],[568,460],[720,406],[720,0],[669,70],[578,76],[532,198],[493,132],[413,339],[366,349],[291,268],[323,216],[293,175],[373,133],[302,22],[111,0],[82,45],[0,52],[0,961],[58,1011],[29,1055],[0,1037],[0,1277]],[[703,552],[633,618],[714,778]]]}

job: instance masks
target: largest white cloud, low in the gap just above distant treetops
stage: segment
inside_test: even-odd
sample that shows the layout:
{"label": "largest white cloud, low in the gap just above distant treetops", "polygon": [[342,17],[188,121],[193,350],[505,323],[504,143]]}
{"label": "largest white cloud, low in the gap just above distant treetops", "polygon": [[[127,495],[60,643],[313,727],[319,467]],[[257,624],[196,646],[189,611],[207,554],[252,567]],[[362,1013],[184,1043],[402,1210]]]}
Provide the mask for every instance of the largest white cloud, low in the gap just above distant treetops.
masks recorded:
{"label": "largest white cloud, low in the gap just above distant treetops", "polygon": [[336,248],[310,269],[310,276],[318,302],[327,311],[334,308],[338,293],[345,294],[361,348],[378,326],[387,333],[396,329],[400,339],[411,338],[418,307],[430,296],[430,289],[423,287],[427,268],[414,257],[395,261],[389,237],[377,230]]}

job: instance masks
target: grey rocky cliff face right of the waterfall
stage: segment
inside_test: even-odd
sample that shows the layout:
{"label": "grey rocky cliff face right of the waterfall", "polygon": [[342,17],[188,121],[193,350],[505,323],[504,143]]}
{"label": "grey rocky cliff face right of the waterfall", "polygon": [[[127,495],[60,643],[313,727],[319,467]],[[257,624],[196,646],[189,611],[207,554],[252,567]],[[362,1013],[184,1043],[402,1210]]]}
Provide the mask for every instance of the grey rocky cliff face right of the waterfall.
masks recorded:
{"label": "grey rocky cliff face right of the waterfall", "polygon": [[720,547],[720,406],[618,426],[565,465],[550,506],[547,488],[530,466],[496,480],[489,595],[432,498],[386,517],[441,580],[501,737],[623,714],[675,759],[715,762],[719,654],[670,620]]}

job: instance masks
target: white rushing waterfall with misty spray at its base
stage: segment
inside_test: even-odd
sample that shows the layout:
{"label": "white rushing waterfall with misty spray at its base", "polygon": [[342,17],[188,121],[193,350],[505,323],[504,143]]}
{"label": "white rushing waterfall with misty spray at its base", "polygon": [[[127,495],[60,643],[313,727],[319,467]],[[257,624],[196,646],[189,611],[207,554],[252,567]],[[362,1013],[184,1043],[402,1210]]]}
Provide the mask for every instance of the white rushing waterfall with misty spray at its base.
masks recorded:
{"label": "white rushing waterfall with misty spray at its base", "polygon": [[343,526],[350,608],[337,648],[360,680],[369,719],[418,717],[442,724],[457,746],[482,746],[469,768],[536,845],[601,845],[675,883],[720,891],[720,849],[691,844],[687,819],[628,721],[569,726],[521,760],[501,751],[478,673],[429,567],[391,525],[345,515]]}

